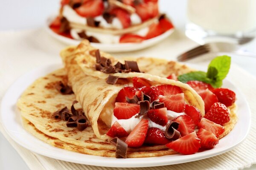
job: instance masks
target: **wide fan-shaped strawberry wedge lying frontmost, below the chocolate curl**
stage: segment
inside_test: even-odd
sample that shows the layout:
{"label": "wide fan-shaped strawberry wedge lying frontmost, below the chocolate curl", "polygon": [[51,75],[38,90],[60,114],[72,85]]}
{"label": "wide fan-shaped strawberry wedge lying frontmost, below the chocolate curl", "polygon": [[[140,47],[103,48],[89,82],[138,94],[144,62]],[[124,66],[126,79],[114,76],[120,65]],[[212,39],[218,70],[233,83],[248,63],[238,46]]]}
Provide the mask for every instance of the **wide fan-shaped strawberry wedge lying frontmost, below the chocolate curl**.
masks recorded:
{"label": "wide fan-shaped strawberry wedge lying frontmost, below the chocolate curl", "polygon": [[198,136],[194,131],[186,136],[181,137],[180,139],[166,144],[166,146],[177,151],[178,153],[189,155],[196,153],[201,145],[200,139],[198,139]]}

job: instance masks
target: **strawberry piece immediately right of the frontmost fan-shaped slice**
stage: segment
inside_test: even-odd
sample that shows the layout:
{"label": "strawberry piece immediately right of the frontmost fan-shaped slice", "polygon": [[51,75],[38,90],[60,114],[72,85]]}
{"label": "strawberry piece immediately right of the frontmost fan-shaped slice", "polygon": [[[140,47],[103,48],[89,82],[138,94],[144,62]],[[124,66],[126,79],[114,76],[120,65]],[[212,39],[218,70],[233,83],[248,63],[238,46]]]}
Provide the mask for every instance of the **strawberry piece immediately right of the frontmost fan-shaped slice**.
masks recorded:
{"label": "strawberry piece immediately right of the frontmost fan-shaped slice", "polygon": [[201,148],[212,149],[218,144],[218,138],[212,132],[209,132],[204,128],[198,130],[197,136],[201,141]]}

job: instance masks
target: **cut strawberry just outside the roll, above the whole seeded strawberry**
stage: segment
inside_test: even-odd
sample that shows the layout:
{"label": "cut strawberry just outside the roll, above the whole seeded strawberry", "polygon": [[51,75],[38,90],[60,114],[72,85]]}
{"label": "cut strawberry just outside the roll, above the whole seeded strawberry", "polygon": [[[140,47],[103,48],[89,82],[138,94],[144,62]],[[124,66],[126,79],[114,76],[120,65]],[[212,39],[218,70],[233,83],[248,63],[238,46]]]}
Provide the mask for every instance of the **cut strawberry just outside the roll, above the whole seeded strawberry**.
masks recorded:
{"label": "cut strawberry just outside the roll, above the whole seeded strawberry", "polygon": [[199,95],[204,100],[204,110],[205,110],[205,113],[207,113],[207,111],[209,111],[209,109],[211,108],[213,103],[218,102],[217,96],[215,94],[213,94],[211,91],[209,91],[208,89],[206,89],[203,92],[200,92]]}

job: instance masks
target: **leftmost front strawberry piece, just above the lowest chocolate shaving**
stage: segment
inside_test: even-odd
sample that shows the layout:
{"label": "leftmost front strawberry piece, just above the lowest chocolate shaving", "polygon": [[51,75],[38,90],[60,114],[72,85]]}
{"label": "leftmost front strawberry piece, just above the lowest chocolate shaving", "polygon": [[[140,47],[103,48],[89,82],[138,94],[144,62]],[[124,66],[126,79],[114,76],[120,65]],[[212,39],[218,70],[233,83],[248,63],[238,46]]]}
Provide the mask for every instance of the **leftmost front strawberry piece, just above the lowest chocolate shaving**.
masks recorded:
{"label": "leftmost front strawberry piece, just above the lowest chocolate shaving", "polygon": [[117,121],[114,122],[114,124],[111,126],[106,134],[112,138],[122,138],[129,135]]}

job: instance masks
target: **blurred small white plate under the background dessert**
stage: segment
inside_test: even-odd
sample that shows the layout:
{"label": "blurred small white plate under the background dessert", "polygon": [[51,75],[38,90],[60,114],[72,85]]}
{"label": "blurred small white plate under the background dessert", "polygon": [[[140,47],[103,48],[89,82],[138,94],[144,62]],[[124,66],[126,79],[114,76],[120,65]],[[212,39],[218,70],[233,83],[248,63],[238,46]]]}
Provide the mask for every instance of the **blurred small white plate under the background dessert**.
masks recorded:
{"label": "blurred small white plate under the background dessert", "polygon": [[[52,20],[54,19],[54,16],[51,16],[47,19],[46,21],[46,30],[47,32],[54,37],[55,39],[64,42],[67,45],[78,45],[80,43],[80,40],[73,40],[64,36],[61,36],[59,34],[56,34],[54,31],[52,31],[49,28],[50,23],[52,22]],[[174,31],[174,28],[170,29],[169,31],[166,31],[165,33],[151,38],[149,40],[144,40],[141,43],[119,43],[119,44],[105,44],[105,43],[91,43],[91,45],[95,48],[99,48],[102,51],[105,52],[124,52],[124,51],[135,51],[135,50],[140,50],[143,48],[147,48],[150,47],[152,45],[155,45],[161,41],[163,41],[164,39],[166,39],[167,37],[169,37],[169,35],[171,35]]]}

